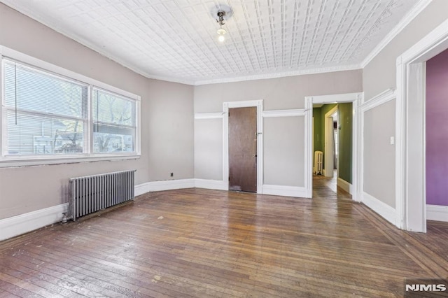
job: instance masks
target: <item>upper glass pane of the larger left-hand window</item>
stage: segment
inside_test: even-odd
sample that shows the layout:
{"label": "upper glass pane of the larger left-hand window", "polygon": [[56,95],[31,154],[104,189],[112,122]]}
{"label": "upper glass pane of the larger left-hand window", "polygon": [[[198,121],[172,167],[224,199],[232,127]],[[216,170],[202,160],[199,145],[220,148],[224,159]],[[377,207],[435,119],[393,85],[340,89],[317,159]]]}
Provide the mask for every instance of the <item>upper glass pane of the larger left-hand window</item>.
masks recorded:
{"label": "upper glass pane of the larger left-hand window", "polygon": [[87,116],[87,85],[65,80],[13,62],[4,62],[5,104],[18,110]]}

